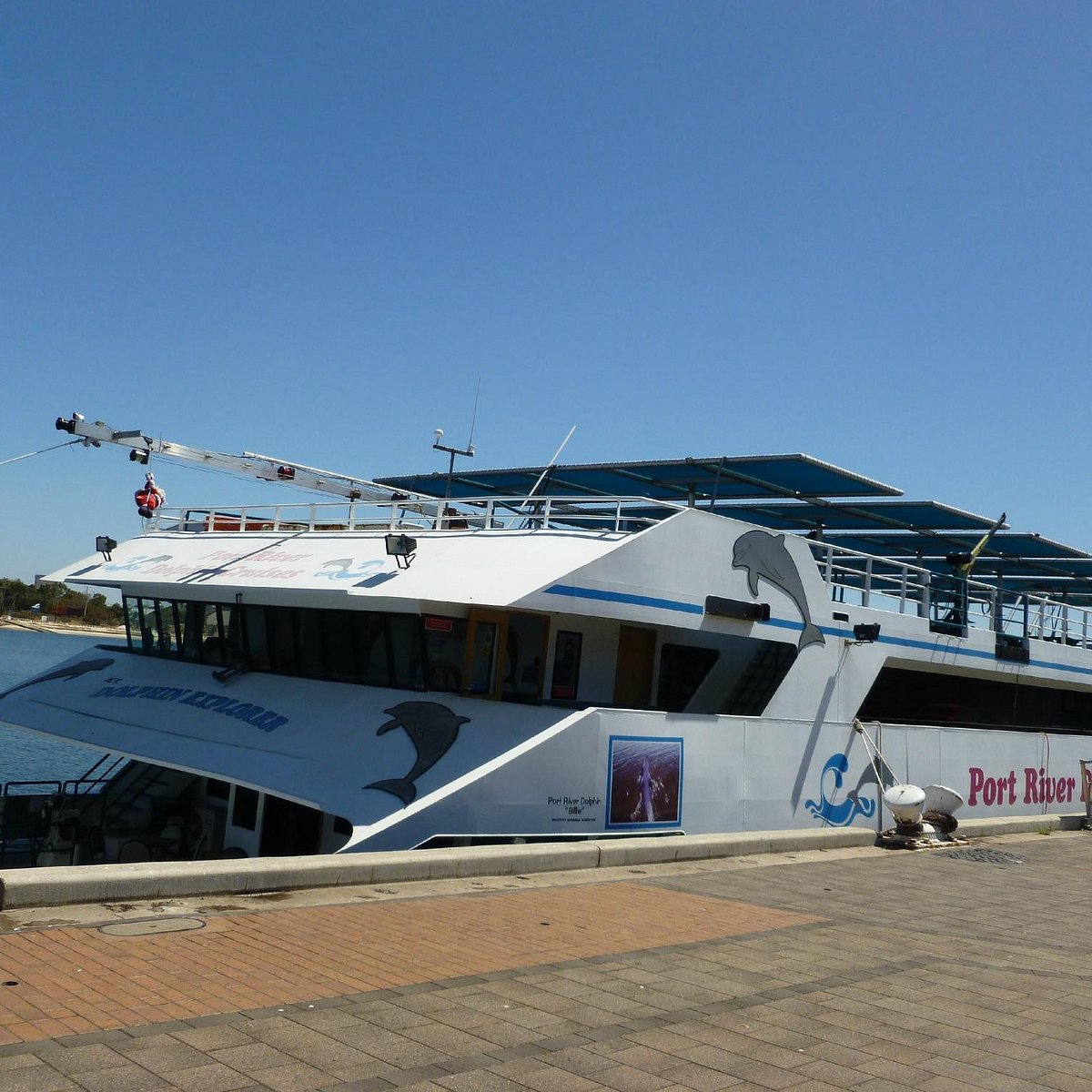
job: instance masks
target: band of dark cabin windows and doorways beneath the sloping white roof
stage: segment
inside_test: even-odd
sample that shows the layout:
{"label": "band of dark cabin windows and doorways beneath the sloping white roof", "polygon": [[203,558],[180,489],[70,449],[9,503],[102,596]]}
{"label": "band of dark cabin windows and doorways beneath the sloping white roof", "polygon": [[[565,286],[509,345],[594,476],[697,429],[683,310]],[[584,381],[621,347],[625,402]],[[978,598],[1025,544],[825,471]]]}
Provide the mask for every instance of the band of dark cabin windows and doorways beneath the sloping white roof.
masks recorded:
{"label": "band of dark cabin windows and doorways beneath the sloping white roof", "polygon": [[[581,686],[583,639],[559,630],[544,673],[545,616],[487,612],[471,618],[313,607],[194,603],[127,596],[129,645],[146,655],[207,664],[226,672],[269,672],[399,690],[435,690],[575,705],[625,704],[679,712],[701,687],[719,653],[664,643],[653,690],[653,662],[616,665],[614,692]],[[652,638],[655,634],[644,631]],[[652,651],[652,650],[650,650]],[[601,685],[606,673],[601,668]],[[618,679],[641,676],[636,686]],[[594,684],[593,684],[594,685]],[[655,704],[652,705],[651,701]]]}

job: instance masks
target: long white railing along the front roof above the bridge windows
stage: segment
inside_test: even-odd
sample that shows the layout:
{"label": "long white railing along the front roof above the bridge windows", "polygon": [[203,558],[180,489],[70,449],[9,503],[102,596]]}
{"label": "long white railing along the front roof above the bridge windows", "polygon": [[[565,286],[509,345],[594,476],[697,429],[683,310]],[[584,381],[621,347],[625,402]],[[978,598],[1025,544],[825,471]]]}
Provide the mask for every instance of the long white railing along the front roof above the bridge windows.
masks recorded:
{"label": "long white railing along the front roof above the bridge windows", "polygon": [[157,509],[149,530],[207,532],[300,531],[600,531],[628,534],[658,523],[682,506],[646,497],[470,497],[442,501],[335,501],[247,505],[232,511],[211,508]]}

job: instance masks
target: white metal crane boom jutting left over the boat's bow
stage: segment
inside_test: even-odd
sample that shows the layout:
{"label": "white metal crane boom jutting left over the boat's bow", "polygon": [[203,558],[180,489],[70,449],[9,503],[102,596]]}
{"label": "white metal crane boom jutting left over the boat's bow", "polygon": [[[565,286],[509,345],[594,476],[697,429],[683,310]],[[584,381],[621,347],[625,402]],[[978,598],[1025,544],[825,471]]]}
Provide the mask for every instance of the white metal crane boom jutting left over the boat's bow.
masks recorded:
{"label": "white metal crane boom jutting left over the boat's bow", "polygon": [[[87,422],[81,414],[74,413],[70,418],[58,417],[57,428],[70,436],[80,437],[86,447],[99,448],[104,443],[116,443],[129,448],[129,458],[134,463],[145,464],[153,454],[177,459],[180,462],[195,463],[214,470],[228,471],[262,482],[283,482],[304,489],[317,489],[320,492],[332,492],[349,500],[370,500],[387,502],[393,497],[393,490],[367,478],[348,477],[332,471],[321,471],[313,466],[304,466],[287,460],[273,459],[270,455],[259,455],[245,451],[241,455],[229,455],[221,451],[204,451],[201,448],[190,448],[185,443],[173,443],[168,440],[155,440],[145,436],[139,429],[121,431],[110,428],[100,420]],[[415,497],[417,495],[414,495]],[[399,499],[408,497],[400,495]],[[424,499],[424,498],[422,498]]]}

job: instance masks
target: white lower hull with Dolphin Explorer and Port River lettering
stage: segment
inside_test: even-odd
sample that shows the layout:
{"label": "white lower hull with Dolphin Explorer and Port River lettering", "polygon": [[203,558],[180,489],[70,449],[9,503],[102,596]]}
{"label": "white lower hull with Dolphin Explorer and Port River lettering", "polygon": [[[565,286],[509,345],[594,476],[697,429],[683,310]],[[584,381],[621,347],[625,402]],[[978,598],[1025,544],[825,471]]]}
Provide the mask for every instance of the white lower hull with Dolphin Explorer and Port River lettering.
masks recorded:
{"label": "white lower hull with Dolphin Explorer and Port River lettering", "polygon": [[[296,800],[346,852],[437,839],[882,829],[877,770],[842,722],[512,705],[209,668],[115,646],[0,697],[4,723]],[[893,780],[960,818],[1075,812],[1088,737],[869,728]]]}

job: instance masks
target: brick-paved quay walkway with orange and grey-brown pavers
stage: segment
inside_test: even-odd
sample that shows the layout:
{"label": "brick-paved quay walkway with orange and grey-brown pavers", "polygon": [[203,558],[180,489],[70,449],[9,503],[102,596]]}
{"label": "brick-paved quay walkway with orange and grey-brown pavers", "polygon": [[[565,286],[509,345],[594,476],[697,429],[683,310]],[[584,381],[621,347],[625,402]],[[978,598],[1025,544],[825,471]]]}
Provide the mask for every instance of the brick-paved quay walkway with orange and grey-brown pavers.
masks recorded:
{"label": "brick-paved quay walkway with orange and grey-brown pavers", "polygon": [[1092,835],[973,850],[0,914],[0,1092],[1083,1092]]}

